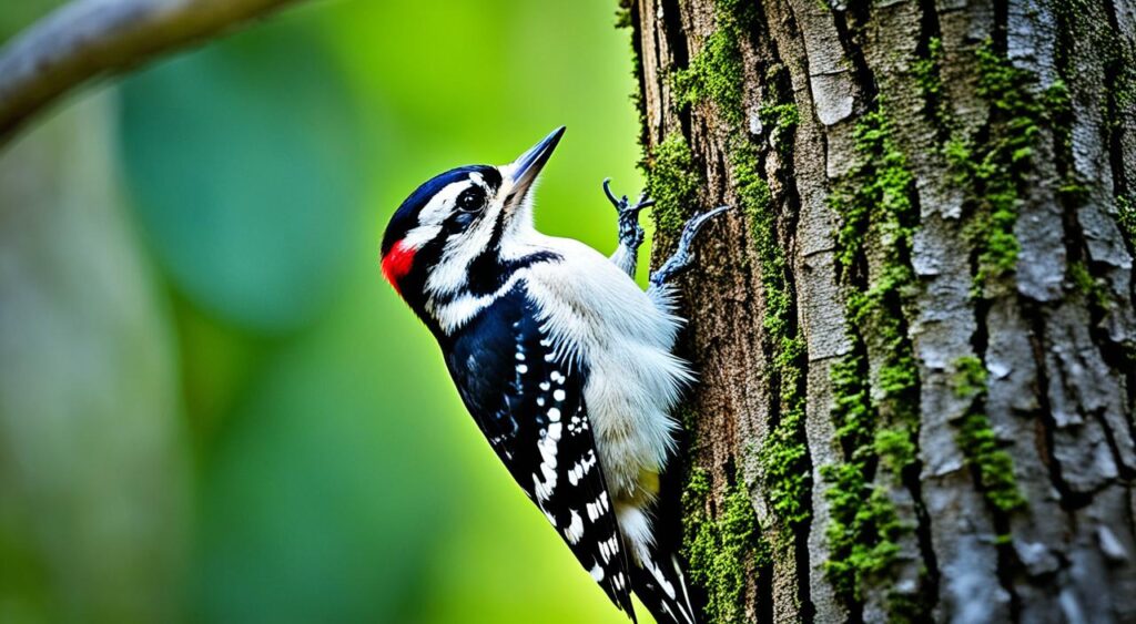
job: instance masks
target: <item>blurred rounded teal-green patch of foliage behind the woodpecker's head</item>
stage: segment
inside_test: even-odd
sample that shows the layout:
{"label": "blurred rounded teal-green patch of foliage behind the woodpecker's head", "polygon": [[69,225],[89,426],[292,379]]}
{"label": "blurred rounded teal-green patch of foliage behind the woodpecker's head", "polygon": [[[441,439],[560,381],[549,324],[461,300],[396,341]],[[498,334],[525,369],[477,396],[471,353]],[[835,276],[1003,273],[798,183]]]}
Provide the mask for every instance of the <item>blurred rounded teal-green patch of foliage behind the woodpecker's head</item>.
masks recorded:
{"label": "blurred rounded teal-green patch of foliage behind the woodpecker's head", "polygon": [[345,77],[285,22],[166,62],[124,88],[134,205],[178,288],[257,331],[310,321],[365,243]]}

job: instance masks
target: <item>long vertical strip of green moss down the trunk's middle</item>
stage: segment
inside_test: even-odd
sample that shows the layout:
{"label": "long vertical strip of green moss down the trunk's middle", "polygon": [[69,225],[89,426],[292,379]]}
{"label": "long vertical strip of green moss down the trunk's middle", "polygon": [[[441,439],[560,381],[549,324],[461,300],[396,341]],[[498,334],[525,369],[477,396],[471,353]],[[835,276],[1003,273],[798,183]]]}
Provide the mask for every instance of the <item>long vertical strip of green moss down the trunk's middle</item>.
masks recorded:
{"label": "long vertical strip of green moss down the trunk's middle", "polygon": [[[886,572],[897,540],[913,529],[899,520],[887,492],[902,487],[902,473],[916,462],[919,427],[919,372],[903,314],[918,288],[910,263],[919,220],[914,177],[891,137],[883,104],[860,119],[853,137],[858,162],[829,197],[841,217],[836,261],[854,345],[832,372],[833,419],[845,461],[821,471],[832,505],[825,570],[847,602],[862,600],[864,580]],[[880,359],[875,379],[868,353]],[[880,467],[888,479],[877,474]]]}

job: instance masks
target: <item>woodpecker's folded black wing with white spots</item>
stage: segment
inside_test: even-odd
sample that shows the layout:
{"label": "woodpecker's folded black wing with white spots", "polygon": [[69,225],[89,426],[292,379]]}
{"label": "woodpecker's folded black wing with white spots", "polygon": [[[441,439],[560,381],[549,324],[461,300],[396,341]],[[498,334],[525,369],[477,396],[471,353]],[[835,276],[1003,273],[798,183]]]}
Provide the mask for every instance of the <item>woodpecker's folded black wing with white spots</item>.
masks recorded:
{"label": "woodpecker's folded black wing with white spots", "polygon": [[518,284],[454,339],[448,365],[466,407],[513,479],[615,605],[635,618],[624,545],[584,404]]}

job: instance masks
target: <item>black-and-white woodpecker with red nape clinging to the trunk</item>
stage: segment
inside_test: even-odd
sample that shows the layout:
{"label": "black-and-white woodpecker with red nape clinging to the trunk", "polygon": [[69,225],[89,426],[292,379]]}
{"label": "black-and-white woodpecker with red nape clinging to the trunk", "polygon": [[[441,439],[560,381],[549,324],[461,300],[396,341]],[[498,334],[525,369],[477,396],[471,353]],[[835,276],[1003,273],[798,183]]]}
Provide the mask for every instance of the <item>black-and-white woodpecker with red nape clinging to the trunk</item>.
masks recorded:
{"label": "black-and-white woodpecker with red nape clinging to the trunk", "polygon": [[675,454],[671,411],[694,381],[674,354],[684,321],[670,280],[727,206],[685,224],[644,290],[644,194],[616,199],[603,182],[618,216],[610,258],[534,227],[534,183],[563,133],[508,165],[418,186],[383,235],[382,271],[434,335],[493,452],[616,608],[635,622],[634,591],[657,622],[695,624],[682,560],[653,517]]}

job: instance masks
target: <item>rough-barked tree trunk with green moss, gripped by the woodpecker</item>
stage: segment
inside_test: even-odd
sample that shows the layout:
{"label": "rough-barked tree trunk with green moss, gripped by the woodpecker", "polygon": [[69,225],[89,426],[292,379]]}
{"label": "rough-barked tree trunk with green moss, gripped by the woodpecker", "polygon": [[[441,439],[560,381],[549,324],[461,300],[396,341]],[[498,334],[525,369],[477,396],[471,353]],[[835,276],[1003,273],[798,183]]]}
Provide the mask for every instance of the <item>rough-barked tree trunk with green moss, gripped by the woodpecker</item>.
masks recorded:
{"label": "rough-barked tree trunk with green moss, gripped by the woodpecker", "polygon": [[1136,5],[625,3],[709,622],[1136,622]]}

